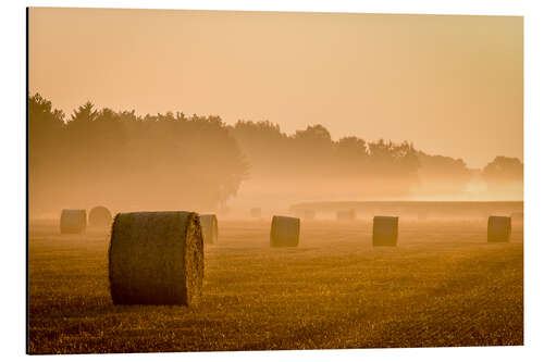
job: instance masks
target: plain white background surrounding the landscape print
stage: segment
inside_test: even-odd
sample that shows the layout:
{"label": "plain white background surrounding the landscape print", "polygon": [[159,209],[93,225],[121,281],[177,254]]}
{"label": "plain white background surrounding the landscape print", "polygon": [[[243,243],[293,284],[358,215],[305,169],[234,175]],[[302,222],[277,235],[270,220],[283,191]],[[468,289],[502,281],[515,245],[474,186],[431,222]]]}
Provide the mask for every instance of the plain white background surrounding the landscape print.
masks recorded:
{"label": "plain white background surrounding the landscape print", "polygon": [[[363,350],[314,350],[314,351],[273,351],[273,352],[210,352],[210,353],[154,353],[154,354],[89,354],[66,355],[64,359],[123,359],[131,361],[148,358],[161,360],[189,361],[221,360],[252,361],[257,359],[308,359],[325,361],[332,358],[347,360],[418,360],[418,361],[459,361],[461,359],[494,361],[537,360],[544,355],[544,330],[542,324],[544,292],[541,282],[544,247],[542,233],[539,233],[539,205],[543,203],[544,172],[541,155],[544,154],[543,114],[543,35],[544,18],[540,1],[13,1],[2,4],[2,83],[1,98],[8,108],[3,121],[2,147],[2,199],[7,200],[1,209],[3,233],[2,265],[2,354],[7,357],[35,358],[25,355],[26,329],[26,159],[25,159],[25,92],[26,92],[26,43],[25,7],[78,7],[78,8],[144,8],[144,9],[195,9],[195,10],[252,10],[252,11],[318,11],[318,12],[359,12],[359,13],[412,13],[412,14],[471,14],[471,15],[522,15],[524,16],[524,163],[526,163],[526,346],[524,347],[469,347],[469,348],[425,348],[425,349],[363,349]],[[5,9],[9,8],[9,9]],[[11,355],[8,355],[11,354]],[[44,357],[46,359],[55,357]],[[11,359],[10,359],[11,360]]]}

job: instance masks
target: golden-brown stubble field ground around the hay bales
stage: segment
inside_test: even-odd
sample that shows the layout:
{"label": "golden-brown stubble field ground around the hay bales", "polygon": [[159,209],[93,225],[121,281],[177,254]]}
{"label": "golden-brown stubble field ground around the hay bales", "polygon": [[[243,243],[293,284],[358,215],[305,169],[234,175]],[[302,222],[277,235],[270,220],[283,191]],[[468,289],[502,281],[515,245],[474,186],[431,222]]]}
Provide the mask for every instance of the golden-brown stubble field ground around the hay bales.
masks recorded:
{"label": "golden-brown stubble field ground around the hay bales", "polygon": [[301,221],[271,249],[270,221],[219,220],[201,303],[113,305],[106,230],[29,224],[29,352],[89,353],[523,344],[523,229],[486,242],[486,221]]}

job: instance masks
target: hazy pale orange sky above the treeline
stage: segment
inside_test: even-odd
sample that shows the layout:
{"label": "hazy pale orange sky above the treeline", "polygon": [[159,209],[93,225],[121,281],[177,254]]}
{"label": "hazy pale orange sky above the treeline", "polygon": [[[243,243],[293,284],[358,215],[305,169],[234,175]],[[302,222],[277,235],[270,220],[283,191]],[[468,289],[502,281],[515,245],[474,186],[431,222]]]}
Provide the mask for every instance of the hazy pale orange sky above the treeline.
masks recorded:
{"label": "hazy pale orange sky above the treeline", "polygon": [[523,157],[516,16],[33,8],[29,91],[71,114],[269,120],[413,141],[481,167]]}

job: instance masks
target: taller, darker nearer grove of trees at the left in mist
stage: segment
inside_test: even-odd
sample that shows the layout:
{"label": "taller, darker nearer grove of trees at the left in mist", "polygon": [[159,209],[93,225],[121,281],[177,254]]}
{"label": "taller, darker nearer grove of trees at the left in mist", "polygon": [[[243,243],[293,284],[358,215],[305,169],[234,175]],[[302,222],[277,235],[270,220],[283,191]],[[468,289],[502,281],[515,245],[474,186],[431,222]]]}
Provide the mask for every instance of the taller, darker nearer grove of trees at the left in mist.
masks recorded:
{"label": "taller, darker nearer grove of trees at the left in mist", "polygon": [[125,209],[213,208],[236,195],[248,172],[236,140],[217,116],[144,117],[96,110],[66,117],[29,99],[30,207],[106,203]]}

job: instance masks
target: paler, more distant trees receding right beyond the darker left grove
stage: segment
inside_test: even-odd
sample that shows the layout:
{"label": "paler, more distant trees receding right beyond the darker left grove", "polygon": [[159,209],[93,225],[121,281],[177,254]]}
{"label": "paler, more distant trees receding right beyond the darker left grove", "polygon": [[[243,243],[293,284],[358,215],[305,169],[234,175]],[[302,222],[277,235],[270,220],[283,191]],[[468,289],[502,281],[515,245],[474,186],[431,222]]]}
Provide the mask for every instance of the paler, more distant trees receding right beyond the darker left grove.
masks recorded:
{"label": "paler, more distant trees receding right beyond the darker left grove", "polygon": [[461,195],[474,174],[481,174],[492,191],[499,191],[506,184],[519,188],[523,179],[523,165],[518,159],[497,157],[482,173],[468,168],[461,159],[426,154],[407,141],[366,141],[354,136],[334,141],[321,125],[290,136],[268,121],[238,121],[231,129],[252,165],[254,178],[288,176],[293,180],[302,178],[304,187],[311,187],[313,177],[347,177],[355,184],[354,195],[370,199]]}

